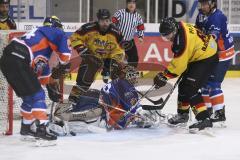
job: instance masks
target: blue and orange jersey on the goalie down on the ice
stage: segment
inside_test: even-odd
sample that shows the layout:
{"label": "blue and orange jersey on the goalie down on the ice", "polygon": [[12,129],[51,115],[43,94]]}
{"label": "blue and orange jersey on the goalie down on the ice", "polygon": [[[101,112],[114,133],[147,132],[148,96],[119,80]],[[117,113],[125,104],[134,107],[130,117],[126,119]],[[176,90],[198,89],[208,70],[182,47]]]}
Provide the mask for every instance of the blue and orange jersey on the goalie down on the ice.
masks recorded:
{"label": "blue and orange jersey on the goalie down on the ice", "polygon": [[100,104],[105,108],[107,123],[115,129],[125,128],[140,107],[135,87],[124,79],[113,80],[102,88]]}

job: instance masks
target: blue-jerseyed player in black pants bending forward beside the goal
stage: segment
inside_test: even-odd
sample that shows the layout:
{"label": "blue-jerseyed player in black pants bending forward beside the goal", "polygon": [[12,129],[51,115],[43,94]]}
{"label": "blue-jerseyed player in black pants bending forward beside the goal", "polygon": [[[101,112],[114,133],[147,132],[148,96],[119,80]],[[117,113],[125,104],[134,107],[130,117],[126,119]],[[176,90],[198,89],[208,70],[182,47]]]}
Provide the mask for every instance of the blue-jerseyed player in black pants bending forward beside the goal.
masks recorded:
{"label": "blue-jerseyed player in black pants bending forward beside the goal", "polygon": [[[60,64],[51,74],[49,59],[53,52],[57,53]],[[14,38],[4,49],[1,70],[17,96],[23,100],[21,135],[44,140],[57,139],[46,129],[47,106],[41,84],[48,84],[50,79],[55,82],[65,72],[70,56],[67,36],[56,16],[47,17],[44,26],[33,29],[21,38]],[[34,121],[38,122],[36,132],[31,130]]]}

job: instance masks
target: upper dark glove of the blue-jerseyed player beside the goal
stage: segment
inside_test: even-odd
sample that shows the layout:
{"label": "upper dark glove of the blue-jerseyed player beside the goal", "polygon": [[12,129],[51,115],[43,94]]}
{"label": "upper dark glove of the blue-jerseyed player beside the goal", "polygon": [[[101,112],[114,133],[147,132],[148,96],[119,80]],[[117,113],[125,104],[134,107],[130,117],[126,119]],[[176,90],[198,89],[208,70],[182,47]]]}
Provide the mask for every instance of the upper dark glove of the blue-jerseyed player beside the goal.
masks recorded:
{"label": "upper dark glove of the blue-jerseyed player beside the goal", "polygon": [[52,78],[60,79],[61,76],[64,76],[66,73],[70,72],[71,63],[59,64],[57,67],[52,69]]}

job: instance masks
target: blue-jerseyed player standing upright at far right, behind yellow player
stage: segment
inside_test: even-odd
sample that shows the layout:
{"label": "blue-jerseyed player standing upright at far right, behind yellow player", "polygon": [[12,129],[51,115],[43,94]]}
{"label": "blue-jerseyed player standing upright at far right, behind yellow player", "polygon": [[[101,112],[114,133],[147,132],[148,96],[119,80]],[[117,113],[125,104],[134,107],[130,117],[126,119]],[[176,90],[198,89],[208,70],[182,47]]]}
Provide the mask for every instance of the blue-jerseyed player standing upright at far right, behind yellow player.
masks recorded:
{"label": "blue-jerseyed player standing upright at far right, behind yellow player", "polygon": [[233,37],[227,29],[227,17],[217,9],[217,0],[198,0],[199,14],[196,27],[214,36],[218,44],[219,64],[210,76],[208,83],[202,89],[202,96],[210,114],[215,111],[211,119],[213,122],[224,122],[225,104],[221,83],[234,56]]}

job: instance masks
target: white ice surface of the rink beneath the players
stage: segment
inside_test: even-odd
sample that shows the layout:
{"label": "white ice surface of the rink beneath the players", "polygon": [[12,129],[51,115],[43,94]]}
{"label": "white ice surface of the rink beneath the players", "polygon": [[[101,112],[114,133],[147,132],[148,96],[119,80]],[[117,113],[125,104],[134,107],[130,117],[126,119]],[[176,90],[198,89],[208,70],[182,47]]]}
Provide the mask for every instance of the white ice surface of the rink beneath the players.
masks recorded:
{"label": "white ice surface of the rink beneath the players", "polygon": [[[227,128],[214,129],[215,137],[161,125],[59,137],[57,146],[40,148],[19,140],[18,125],[13,136],[0,137],[0,160],[240,160],[239,85],[237,78],[223,83]],[[163,112],[176,112],[176,91]]]}

